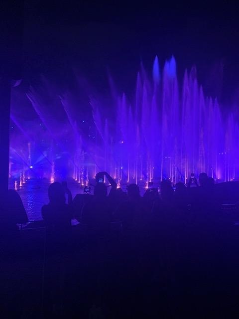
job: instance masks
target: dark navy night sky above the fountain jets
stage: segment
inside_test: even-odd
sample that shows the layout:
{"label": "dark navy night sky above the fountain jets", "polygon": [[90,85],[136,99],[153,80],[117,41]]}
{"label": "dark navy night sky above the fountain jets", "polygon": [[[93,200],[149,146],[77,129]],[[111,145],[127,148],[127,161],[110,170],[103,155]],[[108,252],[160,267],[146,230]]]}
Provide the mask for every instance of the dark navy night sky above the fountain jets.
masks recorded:
{"label": "dark navy night sky above the fountain jets", "polygon": [[235,99],[238,5],[114,2],[26,0],[24,79],[32,82],[40,73],[67,78],[74,66],[104,89],[108,67],[127,91],[134,85],[140,60],[151,71],[156,54],[161,65],[174,54],[179,78],[196,64],[207,94],[224,102]]}

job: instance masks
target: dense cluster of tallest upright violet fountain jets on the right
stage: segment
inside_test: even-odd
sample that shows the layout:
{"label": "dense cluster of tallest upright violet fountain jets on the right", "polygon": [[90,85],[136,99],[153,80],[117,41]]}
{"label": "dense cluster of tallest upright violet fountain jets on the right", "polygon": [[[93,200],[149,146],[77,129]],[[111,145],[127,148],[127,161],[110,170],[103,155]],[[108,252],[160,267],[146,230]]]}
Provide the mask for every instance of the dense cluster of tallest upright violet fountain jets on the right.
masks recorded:
{"label": "dense cluster of tallest upright violet fountain jets on the right", "polygon": [[[156,57],[152,75],[150,81],[141,66],[135,100],[128,101],[125,94],[115,98],[118,132],[108,133],[118,145],[113,154],[115,178],[146,184],[164,178],[186,183],[192,172],[202,171],[215,179],[236,178],[238,123],[233,115],[223,121],[217,100],[205,98],[195,67],[189,74],[185,71],[182,94],[174,57],[166,61],[162,76]],[[108,158],[105,154],[105,161]]]}

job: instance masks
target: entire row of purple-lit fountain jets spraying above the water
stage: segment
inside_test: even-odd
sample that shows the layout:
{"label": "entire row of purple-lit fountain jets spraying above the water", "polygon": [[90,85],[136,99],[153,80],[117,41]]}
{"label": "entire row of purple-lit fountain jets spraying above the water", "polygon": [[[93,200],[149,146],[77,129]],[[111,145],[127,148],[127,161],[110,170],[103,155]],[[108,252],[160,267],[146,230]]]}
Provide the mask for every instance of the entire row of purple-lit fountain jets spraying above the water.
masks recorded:
{"label": "entire row of purple-lit fountain jets spraying above the water", "polygon": [[233,113],[222,116],[217,99],[205,97],[195,68],[185,71],[180,86],[174,57],[161,73],[156,57],[151,77],[141,65],[131,99],[117,92],[112,78],[107,99],[89,93],[83,82],[85,104],[76,102],[74,92],[59,95],[48,81],[47,93],[42,87],[27,92],[35,126],[22,134],[26,123],[12,117],[20,130],[11,133],[10,176],[20,186],[26,171],[32,175],[30,166],[35,176],[72,177],[81,185],[100,170],[110,172],[118,187],[131,182],[147,187],[163,178],[186,182],[191,172],[202,171],[221,181],[238,178],[238,122]]}

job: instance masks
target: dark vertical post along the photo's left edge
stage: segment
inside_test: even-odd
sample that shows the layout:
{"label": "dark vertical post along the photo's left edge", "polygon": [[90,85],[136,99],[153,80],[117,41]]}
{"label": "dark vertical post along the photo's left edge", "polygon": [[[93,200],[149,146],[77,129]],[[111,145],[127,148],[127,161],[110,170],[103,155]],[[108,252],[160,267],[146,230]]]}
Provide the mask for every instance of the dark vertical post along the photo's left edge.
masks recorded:
{"label": "dark vertical post along the photo's left edge", "polygon": [[21,78],[23,0],[9,0],[7,5],[1,5],[0,21],[0,213],[5,214],[9,173],[10,90],[11,84],[15,82],[16,86]]}

